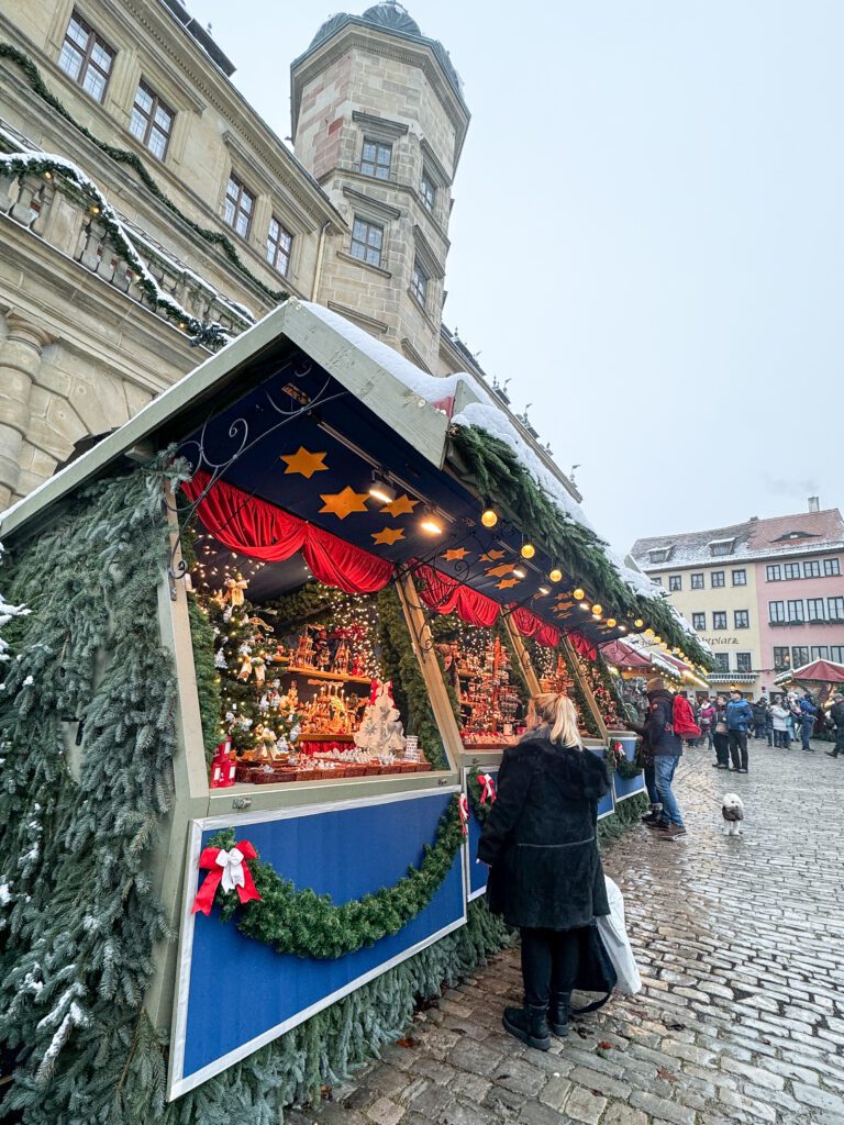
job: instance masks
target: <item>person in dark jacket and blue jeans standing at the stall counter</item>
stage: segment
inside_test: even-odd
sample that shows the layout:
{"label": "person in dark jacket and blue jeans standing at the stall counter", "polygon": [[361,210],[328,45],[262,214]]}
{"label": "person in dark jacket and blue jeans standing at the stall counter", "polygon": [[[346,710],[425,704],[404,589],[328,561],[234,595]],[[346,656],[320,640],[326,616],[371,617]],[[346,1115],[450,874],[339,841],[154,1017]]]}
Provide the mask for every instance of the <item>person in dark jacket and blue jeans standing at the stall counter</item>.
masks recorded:
{"label": "person in dark jacket and blue jeans standing at the stall counter", "polygon": [[648,713],[641,727],[645,785],[650,796],[650,814],[643,824],[664,832],[667,839],[685,836],[685,825],[672,783],[683,753],[683,740],[674,734],[674,696],[661,676],[648,680]]}

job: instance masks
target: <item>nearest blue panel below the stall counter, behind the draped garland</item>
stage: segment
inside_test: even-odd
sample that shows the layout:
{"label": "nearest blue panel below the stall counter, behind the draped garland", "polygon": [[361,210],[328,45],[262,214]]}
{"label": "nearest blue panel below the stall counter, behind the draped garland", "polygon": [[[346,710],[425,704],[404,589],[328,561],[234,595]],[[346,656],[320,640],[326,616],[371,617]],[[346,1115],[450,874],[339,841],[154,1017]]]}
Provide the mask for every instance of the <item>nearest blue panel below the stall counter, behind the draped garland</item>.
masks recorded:
{"label": "nearest blue panel below the stall counter, behind the draped garland", "polygon": [[[297,888],[335,903],[397,882],[422,861],[451,794],[361,806],[236,827],[262,860]],[[233,822],[235,822],[233,820]],[[215,831],[206,831],[203,846]],[[196,916],[183,1077],[318,1005],[363,974],[464,917],[458,853],[432,901],[398,934],[332,961],[278,954],[218,912]]]}

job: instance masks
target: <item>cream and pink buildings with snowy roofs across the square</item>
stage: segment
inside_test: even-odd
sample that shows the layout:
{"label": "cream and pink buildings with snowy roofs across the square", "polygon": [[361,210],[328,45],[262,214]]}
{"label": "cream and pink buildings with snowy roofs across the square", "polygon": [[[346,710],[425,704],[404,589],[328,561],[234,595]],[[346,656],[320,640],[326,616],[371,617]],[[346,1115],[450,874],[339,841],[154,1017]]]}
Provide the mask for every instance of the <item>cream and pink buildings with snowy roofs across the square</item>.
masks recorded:
{"label": "cream and pink buildings with snowy roofs across the square", "polygon": [[844,664],[844,520],[837,508],[637,539],[637,565],[709,644],[709,682],[756,695],[811,660]]}

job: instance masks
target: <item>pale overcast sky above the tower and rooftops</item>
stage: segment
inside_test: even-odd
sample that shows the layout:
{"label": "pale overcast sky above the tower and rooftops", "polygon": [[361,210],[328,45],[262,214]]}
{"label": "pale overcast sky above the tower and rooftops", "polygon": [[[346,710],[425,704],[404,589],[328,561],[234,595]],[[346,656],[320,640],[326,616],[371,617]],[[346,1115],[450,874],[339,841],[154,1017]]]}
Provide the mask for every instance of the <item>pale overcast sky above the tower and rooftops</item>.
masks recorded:
{"label": "pale overcast sky above the tower and rooftops", "polygon": [[[281,137],[330,3],[189,2]],[[844,3],[407,7],[473,114],[446,322],[580,462],[598,529],[838,506]]]}

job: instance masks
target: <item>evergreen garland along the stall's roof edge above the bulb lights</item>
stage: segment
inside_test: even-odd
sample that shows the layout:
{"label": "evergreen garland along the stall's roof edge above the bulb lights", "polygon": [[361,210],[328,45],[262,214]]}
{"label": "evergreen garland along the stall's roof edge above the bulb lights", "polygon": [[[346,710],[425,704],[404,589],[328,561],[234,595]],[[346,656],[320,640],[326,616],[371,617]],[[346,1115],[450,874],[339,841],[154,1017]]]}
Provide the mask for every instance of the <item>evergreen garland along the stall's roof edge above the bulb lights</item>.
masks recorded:
{"label": "evergreen garland along the stall's roof edge above the bulb lights", "polygon": [[683,629],[671,603],[636,594],[612,564],[607,543],[557,506],[510,446],[481,426],[455,425],[450,435],[452,452],[478,494],[518,513],[526,537],[541,543],[573,579],[583,582],[616,616],[643,618],[695,664],[713,667],[712,657]]}

